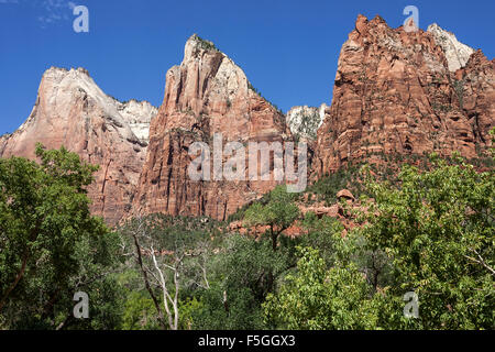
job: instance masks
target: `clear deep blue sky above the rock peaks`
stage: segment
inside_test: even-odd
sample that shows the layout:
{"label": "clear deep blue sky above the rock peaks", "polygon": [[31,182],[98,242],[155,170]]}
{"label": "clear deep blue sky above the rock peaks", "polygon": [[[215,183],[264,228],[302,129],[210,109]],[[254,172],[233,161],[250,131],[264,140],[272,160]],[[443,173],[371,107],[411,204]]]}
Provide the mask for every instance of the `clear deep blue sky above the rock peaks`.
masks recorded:
{"label": "clear deep blue sky above the rock peaks", "polygon": [[234,59],[264,97],[284,111],[331,101],[342,43],[359,13],[391,26],[419,9],[494,57],[493,0],[72,0],[89,9],[89,33],[75,33],[69,1],[0,0],[0,134],[14,131],[35,102],[51,66],[85,67],[107,94],[160,106],[165,74],[193,34]]}

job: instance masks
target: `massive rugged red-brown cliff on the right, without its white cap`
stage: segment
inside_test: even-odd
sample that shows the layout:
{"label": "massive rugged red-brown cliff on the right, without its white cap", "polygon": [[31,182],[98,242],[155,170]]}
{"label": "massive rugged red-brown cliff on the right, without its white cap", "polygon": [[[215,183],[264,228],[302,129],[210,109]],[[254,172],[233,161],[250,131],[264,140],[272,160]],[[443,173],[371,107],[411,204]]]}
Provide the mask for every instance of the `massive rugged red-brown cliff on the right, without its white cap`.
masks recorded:
{"label": "massive rugged red-brown cliff on the right, without its white cap", "polygon": [[332,107],[318,131],[316,175],[384,154],[475,157],[494,125],[494,72],[482,53],[473,56],[455,76],[432,34],[360,15],[342,46]]}

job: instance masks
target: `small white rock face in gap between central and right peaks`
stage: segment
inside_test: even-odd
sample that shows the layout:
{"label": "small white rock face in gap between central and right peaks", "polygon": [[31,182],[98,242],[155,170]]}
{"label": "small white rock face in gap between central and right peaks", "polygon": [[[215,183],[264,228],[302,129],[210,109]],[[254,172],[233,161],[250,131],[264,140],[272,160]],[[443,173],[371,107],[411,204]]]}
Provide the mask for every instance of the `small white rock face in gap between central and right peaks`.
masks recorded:
{"label": "small white rock face in gap between central and right peaks", "polygon": [[317,131],[323,123],[326,108],[326,103],[319,108],[307,106],[292,108],[286,114],[290,132],[301,139],[316,140]]}

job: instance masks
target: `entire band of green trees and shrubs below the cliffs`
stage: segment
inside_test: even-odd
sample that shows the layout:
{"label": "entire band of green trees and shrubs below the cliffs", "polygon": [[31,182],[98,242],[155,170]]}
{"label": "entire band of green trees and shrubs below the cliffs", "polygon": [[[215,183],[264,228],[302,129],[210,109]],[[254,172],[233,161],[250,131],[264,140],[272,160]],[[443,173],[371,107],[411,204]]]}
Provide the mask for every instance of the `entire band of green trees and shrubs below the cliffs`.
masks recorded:
{"label": "entire band of green trees and shrubs below the cliffs", "polygon": [[[0,328],[495,328],[493,169],[433,156],[392,178],[329,175],[308,193],[362,195],[341,204],[346,231],[280,186],[235,215],[241,233],[165,215],[111,232],[88,209],[96,167],[64,148],[37,155],[0,160]],[[76,292],[88,319],[73,316]]]}

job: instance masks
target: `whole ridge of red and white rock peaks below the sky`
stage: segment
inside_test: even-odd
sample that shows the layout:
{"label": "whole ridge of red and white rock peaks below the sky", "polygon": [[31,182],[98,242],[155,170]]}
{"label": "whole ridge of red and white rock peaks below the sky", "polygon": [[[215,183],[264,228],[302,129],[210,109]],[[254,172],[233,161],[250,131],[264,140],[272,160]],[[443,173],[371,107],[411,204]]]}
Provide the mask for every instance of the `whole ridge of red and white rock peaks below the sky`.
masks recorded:
{"label": "whole ridge of red and white rock peaks below the sky", "polygon": [[209,143],[215,133],[244,145],[298,136],[309,142],[314,179],[382,154],[475,157],[491,143],[494,63],[436,24],[406,33],[359,15],[341,48],[331,106],[283,114],[227,54],[193,34],[183,62],[167,70],[158,109],[108,96],[84,68],[47,69],[30,117],[0,136],[0,157],[34,158],[42,142],[99,164],[91,210],[110,224],[152,212],[226,220],[279,182],[191,182],[191,143]]}

